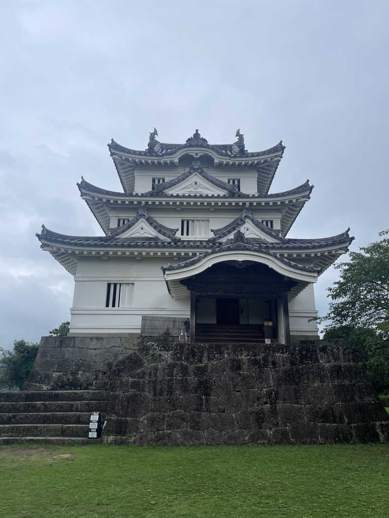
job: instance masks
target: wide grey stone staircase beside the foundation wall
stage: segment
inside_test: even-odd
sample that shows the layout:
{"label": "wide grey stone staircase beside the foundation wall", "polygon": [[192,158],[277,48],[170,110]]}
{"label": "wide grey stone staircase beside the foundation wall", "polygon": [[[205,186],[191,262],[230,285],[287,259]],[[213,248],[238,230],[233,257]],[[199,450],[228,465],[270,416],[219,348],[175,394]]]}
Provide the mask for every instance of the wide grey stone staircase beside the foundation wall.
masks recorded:
{"label": "wide grey stone staircase beside the foundation wall", "polygon": [[88,439],[91,412],[105,420],[109,392],[98,390],[0,392],[0,445],[45,442],[78,444]]}

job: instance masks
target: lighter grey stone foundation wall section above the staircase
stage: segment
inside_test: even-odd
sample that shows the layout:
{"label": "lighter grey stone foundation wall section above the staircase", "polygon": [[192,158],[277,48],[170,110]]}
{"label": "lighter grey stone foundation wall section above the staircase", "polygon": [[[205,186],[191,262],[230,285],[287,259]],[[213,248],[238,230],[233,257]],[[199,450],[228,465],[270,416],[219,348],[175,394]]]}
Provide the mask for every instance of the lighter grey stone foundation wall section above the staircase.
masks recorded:
{"label": "lighter grey stone foundation wall section above the staircase", "polygon": [[104,390],[106,373],[137,349],[137,337],[43,336],[24,390]]}

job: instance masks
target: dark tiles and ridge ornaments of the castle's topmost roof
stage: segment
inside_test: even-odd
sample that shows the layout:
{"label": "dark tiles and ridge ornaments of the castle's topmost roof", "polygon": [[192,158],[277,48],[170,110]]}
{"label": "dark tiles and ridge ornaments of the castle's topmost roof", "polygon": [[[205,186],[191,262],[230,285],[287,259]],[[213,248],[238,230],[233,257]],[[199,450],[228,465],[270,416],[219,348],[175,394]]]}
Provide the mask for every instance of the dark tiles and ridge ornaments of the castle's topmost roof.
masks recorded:
{"label": "dark tiles and ridge ornaments of the castle's topmost roof", "polygon": [[255,151],[249,153],[244,149],[244,144],[242,149],[242,146],[240,145],[239,141],[234,142],[233,144],[209,144],[206,139],[200,136],[200,134],[197,135],[198,137],[195,138],[195,133],[193,137],[188,138],[184,144],[170,144],[166,142],[159,142],[154,138],[152,139],[152,142],[149,143],[151,145],[149,145],[148,149],[145,149],[144,151],[120,146],[120,144],[118,144],[117,142],[115,142],[114,139],[112,139],[110,143],[108,143],[108,148],[111,153],[115,151],[122,151],[124,153],[130,153],[138,156],[169,156],[174,154],[179,149],[204,147],[216,151],[216,153],[225,156],[227,159],[239,156],[256,157],[276,152],[281,152],[282,154],[285,149],[282,140],[280,140],[280,142],[272,148],[263,151]]}

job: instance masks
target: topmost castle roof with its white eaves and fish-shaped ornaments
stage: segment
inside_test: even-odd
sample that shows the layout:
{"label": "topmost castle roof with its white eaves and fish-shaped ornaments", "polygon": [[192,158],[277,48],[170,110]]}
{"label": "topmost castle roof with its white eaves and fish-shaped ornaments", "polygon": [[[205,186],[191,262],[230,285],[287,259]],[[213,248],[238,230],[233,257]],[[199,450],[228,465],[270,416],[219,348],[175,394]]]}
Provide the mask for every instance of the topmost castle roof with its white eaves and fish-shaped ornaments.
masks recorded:
{"label": "topmost castle roof with its white eaves and fish-shaped ornaments", "polygon": [[121,146],[114,139],[108,143],[108,149],[114,161],[121,184],[125,192],[134,191],[136,167],[159,165],[178,166],[181,156],[190,153],[195,157],[207,154],[212,157],[215,167],[253,167],[257,172],[258,194],[263,196],[269,192],[275,171],[282,159],[285,146],[282,140],[272,148],[248,152],[244,147],[244,136],[237,131],[238,140],[232,144],[209,144],[201,137],[198,130],[183,144],[170,144],[156,139],[157,130],[150,133],[146,150],[136,150]]}

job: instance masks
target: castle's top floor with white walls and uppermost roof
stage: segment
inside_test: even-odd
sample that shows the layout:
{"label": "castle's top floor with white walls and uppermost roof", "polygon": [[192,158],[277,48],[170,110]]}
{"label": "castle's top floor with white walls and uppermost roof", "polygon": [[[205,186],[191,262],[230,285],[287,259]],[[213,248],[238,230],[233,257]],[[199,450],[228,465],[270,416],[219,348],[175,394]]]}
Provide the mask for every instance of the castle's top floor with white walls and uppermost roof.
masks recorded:
{"label": "castle's top floor with white walls and uppermost roof", "polygon": [[209,144],[198,130],[183,144],[160,142],[157,136],[154,128],[144,151],[123,147],[114,140],[108,144],[124,193],[152,191],[188,171],[193,160],[200,160],[209,175],[237,192],[267,195],[285,149],[280,141],[270,149],[248,152],[240,130],[235,134],[237,141],[223,145]]}

